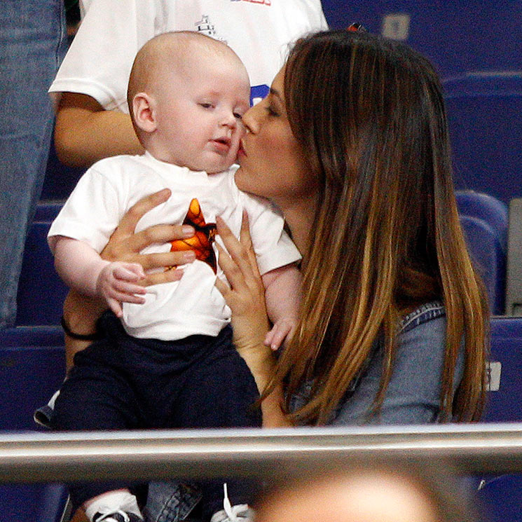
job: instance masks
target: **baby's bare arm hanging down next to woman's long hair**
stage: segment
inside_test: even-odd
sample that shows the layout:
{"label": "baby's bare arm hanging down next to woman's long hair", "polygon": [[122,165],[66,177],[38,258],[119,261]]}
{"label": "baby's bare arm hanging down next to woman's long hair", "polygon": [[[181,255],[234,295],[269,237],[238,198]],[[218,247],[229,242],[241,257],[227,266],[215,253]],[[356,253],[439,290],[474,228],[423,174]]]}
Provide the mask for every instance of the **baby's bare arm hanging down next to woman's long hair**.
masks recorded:
{"label": "baby's bare arm hanging down next to woman's long hair", "polygon": [[273,328],[266,334],[265,345],[273,350],[289,340],[297,324],[301,305],[301,272],[294,263],[261,276],[265,287],[266,310]]}

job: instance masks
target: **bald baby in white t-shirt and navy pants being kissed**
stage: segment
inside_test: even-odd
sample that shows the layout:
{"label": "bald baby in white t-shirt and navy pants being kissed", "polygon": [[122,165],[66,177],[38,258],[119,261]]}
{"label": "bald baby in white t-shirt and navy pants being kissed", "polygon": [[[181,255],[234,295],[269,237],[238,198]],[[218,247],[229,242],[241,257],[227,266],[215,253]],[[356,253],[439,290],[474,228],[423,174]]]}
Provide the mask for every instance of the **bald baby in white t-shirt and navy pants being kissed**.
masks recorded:
{"label": "bald baby in white t-shirt and navy pants being kissed", "polygon": [[[56,430],[112,430],[261,425],[254,378],[235,351],[230,310],[215,287],[223,277],[214,242],[221,216],[239,235],[243,212],[266,288],[275,348],[298,314],[301,256],[269,202],[242,193],[232,167],[249,109],[249,78],[226,44],[191,32],[151,39],[130,74],[128,102],[143,156],[93,165],[49,231],[55,266],[71,288],[103,296],[112,312],[101,341],[78,352],[55,402]],[[231,168],[232,167],[232,168]],[[170,188],[137,231],[153,224],[188,226],[186,241],[144,253],[186,251],[179,281],[139,286],[137,263],[104,261],[99,252],[123,214],[144,195]],[[192,234],[195,229],[195,235]],[[194,261],[195,259],[195,261]],[[193,261],[193,262],[191,262]],[[117,318],[116,318],[117,317]],[[249,521],[247,491],[228,482],[201,484],[205,521]],[[132,484],[71,486],[74,507],[93,522],[140,521]],[[225,509],[222,509],[224,507]]]}

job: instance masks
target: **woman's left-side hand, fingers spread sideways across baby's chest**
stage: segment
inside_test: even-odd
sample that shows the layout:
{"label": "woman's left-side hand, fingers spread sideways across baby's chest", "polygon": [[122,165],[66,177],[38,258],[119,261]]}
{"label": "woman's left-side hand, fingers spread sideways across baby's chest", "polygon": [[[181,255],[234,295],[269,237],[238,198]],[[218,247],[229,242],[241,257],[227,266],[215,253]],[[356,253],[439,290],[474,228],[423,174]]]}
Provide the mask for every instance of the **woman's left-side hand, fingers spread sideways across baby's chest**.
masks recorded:
{"label": "woman's left-side hand, fingers spread sideways across baby's chest", "polygon": [[143,286],[177,281],[183,275],[183,270],[180,268],[153,273],[150,273],[150,270],[184,265],[195,260],[193,251],[163,252],[160,254],[139,253],[153,243],[161,244],[177,239],[188,239],[194,235],[194,228],[188,225],[155,225],[135,233],[136,225],[144,214],[161,205],[168,198],[170,198],[170,190],[164,188],[162,191],[142,198],[130,207],[101,254],[102,258],[107,259],[107,261],[139,263],[145,271],[145,277],[139,281],[139,284]]}

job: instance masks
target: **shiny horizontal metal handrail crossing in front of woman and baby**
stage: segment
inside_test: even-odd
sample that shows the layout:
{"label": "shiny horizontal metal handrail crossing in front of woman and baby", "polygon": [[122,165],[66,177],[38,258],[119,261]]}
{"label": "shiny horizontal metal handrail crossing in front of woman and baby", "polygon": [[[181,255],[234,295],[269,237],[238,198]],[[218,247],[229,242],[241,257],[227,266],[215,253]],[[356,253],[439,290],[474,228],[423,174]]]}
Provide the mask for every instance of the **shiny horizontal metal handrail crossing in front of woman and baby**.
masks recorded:
{"label": "shiny horizontal metal handrail crossing in front of woman and baby", "polygon": [[0,483],[284,479],[357,462],[451,461],[462,473],[522,472],[522,423],[24,433],[0,437]]}

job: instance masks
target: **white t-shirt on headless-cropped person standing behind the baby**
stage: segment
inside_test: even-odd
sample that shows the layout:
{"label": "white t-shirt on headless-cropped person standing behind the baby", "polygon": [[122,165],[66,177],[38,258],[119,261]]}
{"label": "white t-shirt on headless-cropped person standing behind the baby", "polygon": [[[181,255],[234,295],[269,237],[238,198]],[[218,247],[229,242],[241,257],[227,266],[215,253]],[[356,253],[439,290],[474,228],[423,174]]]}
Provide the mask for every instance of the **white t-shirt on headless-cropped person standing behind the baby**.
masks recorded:
{"label": "white t-shirt on headless-cropped person standing behind the baby", "polygon": [[50,92],[80,92],[128,113],[137,51],[157,34],[199,31],[228,43],[245,63],[252,98],[264,97],[288,44],[327,29],[320,0],[90,0]]}

